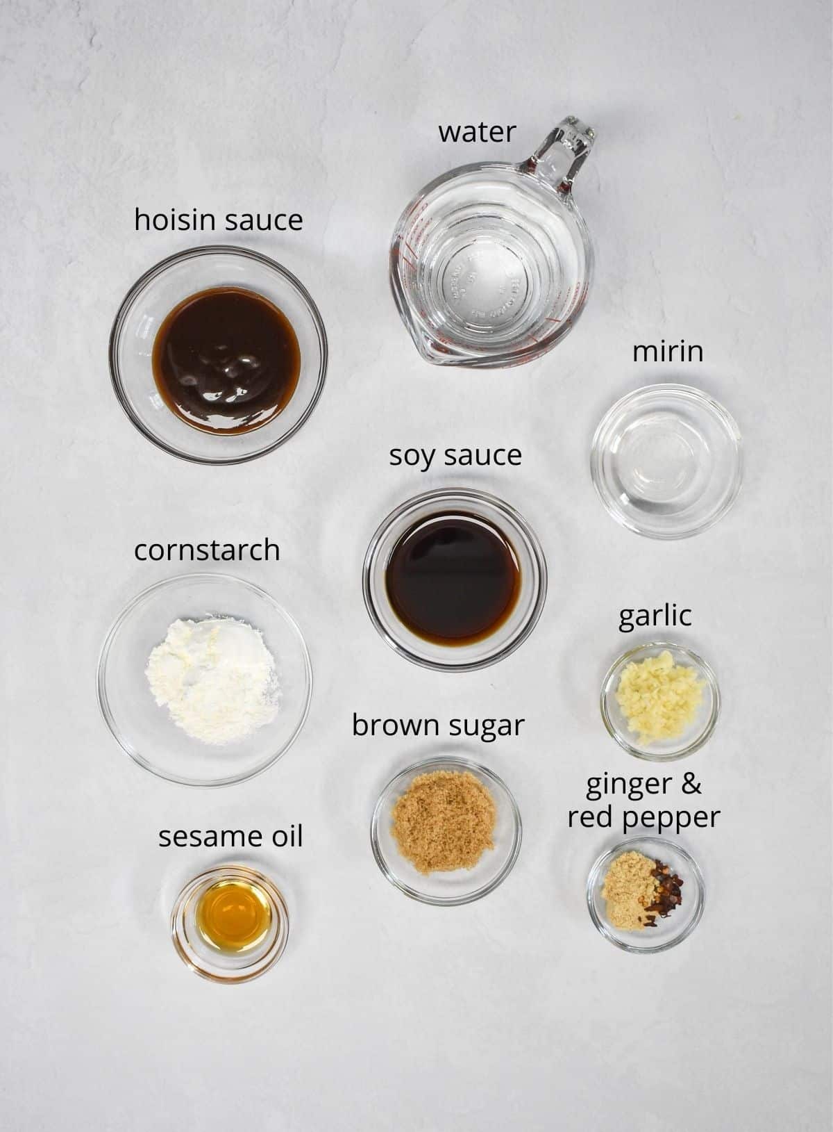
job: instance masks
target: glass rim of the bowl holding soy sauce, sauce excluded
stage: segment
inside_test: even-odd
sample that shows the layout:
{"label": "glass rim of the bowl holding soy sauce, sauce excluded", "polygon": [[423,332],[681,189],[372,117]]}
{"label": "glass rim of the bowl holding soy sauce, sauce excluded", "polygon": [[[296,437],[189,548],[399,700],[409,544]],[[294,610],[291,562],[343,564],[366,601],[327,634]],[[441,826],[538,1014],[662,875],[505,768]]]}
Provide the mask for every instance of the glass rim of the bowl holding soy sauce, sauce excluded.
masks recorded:
{"label": "glass rim of the bowl holding soy sauce, sauce excluded", "polygon": [[[416,509],[429,500],[439,504],[442,504],[445,500],[462,500],[463,506],[467,503],[485,503],[489,507],[494,507],[495,511],[505,515],[521,531],[529,544],[530,556],[533,558],[538,571],[538,590],[530,609],[529,617],[521,625],[517,634],[513,637],[510,637],[505,645],[503,645],[497,652],[481,657],[479,660],[453,663],[451,661],[432,660],[428,657],[417,655],[415,652],[411,652],[406,644],[402,644],[401,641],[397,640],[388,632],[373,600],[373,594],[371,592],[371,571],[382,539],[393,523],[400,520],[404,515],[407,515],[409,511]],[[491,522],[491,520],[488,520],[488,522]],[[502,533],[509,538],[509,532],[502,531]],[[535,629],[547,600],[547,559],[538,535],[535,533],[523,515],[515,511],[511,504],[505,503],[505,500],[500,499],[497,496],[491,495],[488,491],[480,491],[477,488],[432,488],[428,491],[423,491],[419,495],[411,496],[410,498],[404,500],[382,520],[376,530],[373,532],[373,537],[367,544],[364,563],[362,565],[362,595],[364,598],[365,609],[367,610],[376,632],[385,644],[388,644],[400,657],[405,657],[406,660],[409,660],[414,664],[419,664],[420,668],[431,668],[439,672],[474,672],[480,668],[488,668],[489,664],[496,664],[498,660],[503,660],[505,657],[509,657],[515,651],[515,649],[519,649],[521,644],[523,644],[527,637],[532,633],[532,629]]]}

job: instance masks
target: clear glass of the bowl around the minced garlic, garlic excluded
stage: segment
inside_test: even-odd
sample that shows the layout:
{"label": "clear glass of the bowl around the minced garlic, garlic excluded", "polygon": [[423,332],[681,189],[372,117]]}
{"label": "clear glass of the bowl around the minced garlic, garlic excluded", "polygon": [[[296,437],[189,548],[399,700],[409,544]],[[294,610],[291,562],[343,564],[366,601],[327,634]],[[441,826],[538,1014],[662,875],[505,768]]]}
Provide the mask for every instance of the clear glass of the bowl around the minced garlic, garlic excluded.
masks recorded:
{"label": "clear glass of the bowl around the minced garlic, garlic excluded", "polygon": [[[703,683],[703,700],[697,714],[683,735],[676,739],[640,744],[636,732],[627,729],[627,719],[616,702],[616,689],[626,664],[639,663],[648,657],[658,657],[661,652],[670,652],[675,664],[685,664],[686,668],[696,670],[698,679]],[[675,758],[685,758],[686,755],[698,751],[711,737],[720,715],[720,688],[717,676],[696,652],[685,649],[682,644],[673,644],[670,641],[651,641],[649,644],[641,644],[624,652],[613,662],[601,685],[600,707],[608,735],[611,735],[628,754],[653,763],[674,762]]]}

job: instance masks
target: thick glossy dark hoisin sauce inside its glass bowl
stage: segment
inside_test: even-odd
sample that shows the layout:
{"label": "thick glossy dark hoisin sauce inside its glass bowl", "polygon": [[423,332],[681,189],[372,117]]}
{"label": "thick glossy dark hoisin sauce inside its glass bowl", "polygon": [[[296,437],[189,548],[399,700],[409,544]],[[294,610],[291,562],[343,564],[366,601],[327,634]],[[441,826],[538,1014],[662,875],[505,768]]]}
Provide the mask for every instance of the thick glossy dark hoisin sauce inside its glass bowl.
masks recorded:
{"label": "thick glossy dark hoisin sauce inside its glass bowl", "polygon": [[165,404],[203,432],[251,432],[289,402],[301,348],[283,311],[254,291],[211,288],[159,327],[153,369]]}

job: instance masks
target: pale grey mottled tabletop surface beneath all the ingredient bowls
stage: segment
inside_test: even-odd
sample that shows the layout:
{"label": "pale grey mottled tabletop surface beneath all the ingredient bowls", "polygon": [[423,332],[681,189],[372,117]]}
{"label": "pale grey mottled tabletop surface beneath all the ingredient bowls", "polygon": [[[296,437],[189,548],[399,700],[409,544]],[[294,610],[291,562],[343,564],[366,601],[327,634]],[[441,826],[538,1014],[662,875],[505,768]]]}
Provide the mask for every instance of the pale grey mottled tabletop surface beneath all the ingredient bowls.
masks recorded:
{"label": "pale grey mottled tabletop surface beneath all the ingredient bowls", "polygon": [[[2,28],[2,1126],[825,1130],[826,6],[18,0]],[[580,326],[523,369],[424,363],[388,290],[401,207],[455,164],[520,160],[565,113],[598,132],[575,190],[598,249]],[[440,143],[439,123],[481,120],[517,123],[511,145]],[[200,468],[122,413],[106,358],[122,295],[211,242],[137,234],[137,206],[303,214],[300,233],[238,241],[296,272],[327,324],[324,395],[286,447]],[[634,343],[662,336],[704,362],[635,366]],[[724,402],[747,465],[720,524],[659,544],[607,516],[588,447],[616,397],[668,378]],[[393,505],[454,482],[388,449],[476,444],[522,448],[520,469],[457,481],[527,515],[550,592],[517,653],[450,677],[384,645],[359,568]],[[111,619],[182,569],[133,547],[264,534],[279,565],[235,568],[307,637],[303,735],[242,786],[156,780],[95,700]],[[693,608],[685,640],[721,680],[713,740],[676,770],[722,814],[683,839],[702,924],[637,958],[584,906],[610,838],[566,812],[589,774],[650,770],[605,735],[597,693],[639,638],[618,609],[663,601]],[[373,803],[426,746],[353,738],[354,710],[527,718],[519,739],[458,748],[523,815],[487,899],[424,907],[380,875]],[[303,849],[258,858],[292,909],[284,959],[235,989],[196,978],[170,908],[227,855],[157,848],[157,831],[289,822]]]}

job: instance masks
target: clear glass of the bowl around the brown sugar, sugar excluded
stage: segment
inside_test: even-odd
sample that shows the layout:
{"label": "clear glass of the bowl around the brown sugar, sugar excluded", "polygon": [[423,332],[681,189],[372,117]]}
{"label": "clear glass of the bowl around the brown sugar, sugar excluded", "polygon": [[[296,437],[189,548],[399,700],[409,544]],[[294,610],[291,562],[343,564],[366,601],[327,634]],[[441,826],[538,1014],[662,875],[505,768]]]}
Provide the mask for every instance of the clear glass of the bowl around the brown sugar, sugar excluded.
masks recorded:
{"label": "clear glass of the bowl around the brown sugar, sugar excluded", "polygon": [[[433,771],[469,771],[483,782],[497,811],[493,833],[495,847],[487,849],[474,868],[428,873],[425,876],[399,852],[391,832],[391,813],[414,779]],[[512,871],[521,851],[521,815],[505,782],[492,771],[467,758],[440,755],[400,771],[382,790],[371,820],[371,846],[383,875],[406,897],[424,904],[468,904],[493,892]]]}

